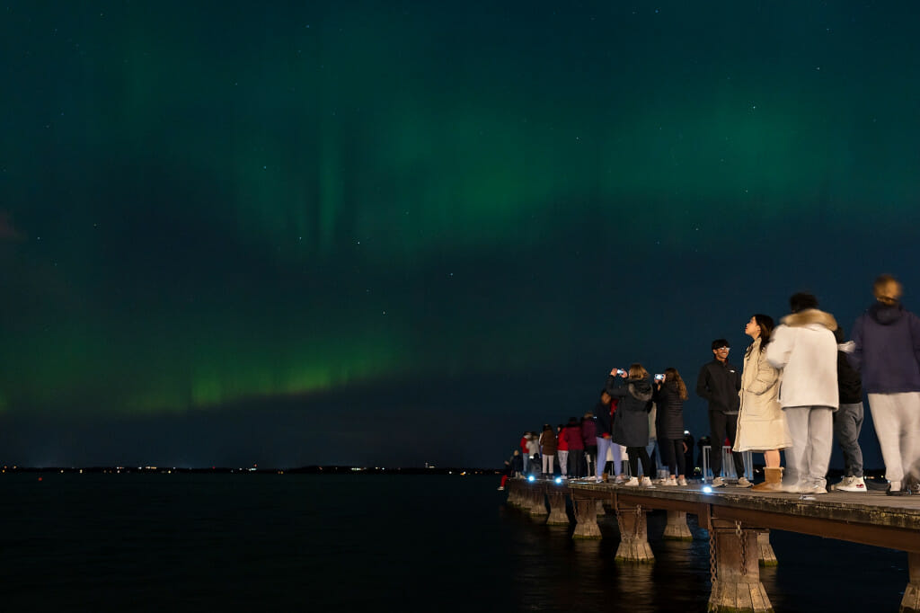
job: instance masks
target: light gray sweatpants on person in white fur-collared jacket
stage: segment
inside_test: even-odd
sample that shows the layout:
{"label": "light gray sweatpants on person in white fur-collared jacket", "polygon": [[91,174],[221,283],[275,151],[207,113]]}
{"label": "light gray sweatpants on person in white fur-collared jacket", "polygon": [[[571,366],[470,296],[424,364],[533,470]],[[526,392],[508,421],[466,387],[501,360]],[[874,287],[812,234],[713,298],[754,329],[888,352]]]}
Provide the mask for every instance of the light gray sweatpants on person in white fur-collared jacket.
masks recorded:
{"label": "light gray sweatpants on person in white fur-collared jacket", "polygon": [[792,446],[787,447],[786,475],[789,484],[826,487],[827,467],[834,445],[834,409],[786,407],[783,409]]}

